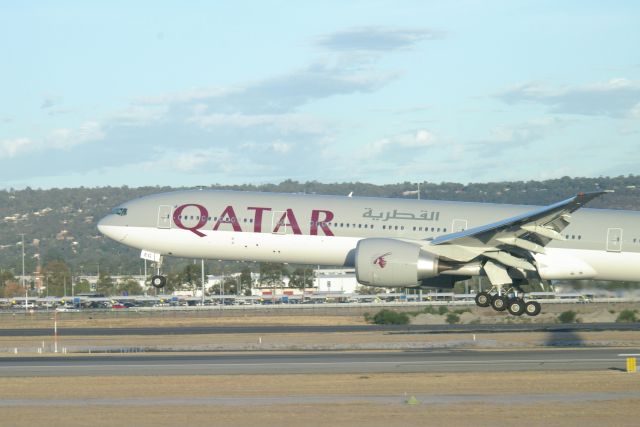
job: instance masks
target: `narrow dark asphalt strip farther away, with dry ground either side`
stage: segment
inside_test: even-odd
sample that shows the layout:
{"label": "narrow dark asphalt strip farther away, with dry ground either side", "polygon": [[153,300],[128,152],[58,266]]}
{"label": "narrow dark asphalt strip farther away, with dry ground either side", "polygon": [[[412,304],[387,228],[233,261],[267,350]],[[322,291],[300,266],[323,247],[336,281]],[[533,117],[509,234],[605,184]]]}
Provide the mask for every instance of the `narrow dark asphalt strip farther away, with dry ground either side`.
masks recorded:
{"label": "narrow dark asphalt strip farther away, with dry ground either side", "polygon": [[[464,325],[335,325],[335,326],[184,326],[144,328],[58,328],[59,336],[110,335],[198,335],[198,334],[283,334],[335,332],[390,333],[499,333],[499,332],[594,332],[640,331],[640,323],[572,323],[572,324],[464,324]],[[47,336],[53,328],[0,328],[2,337]]]}

